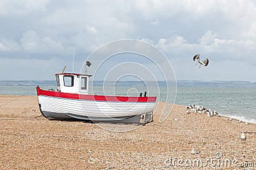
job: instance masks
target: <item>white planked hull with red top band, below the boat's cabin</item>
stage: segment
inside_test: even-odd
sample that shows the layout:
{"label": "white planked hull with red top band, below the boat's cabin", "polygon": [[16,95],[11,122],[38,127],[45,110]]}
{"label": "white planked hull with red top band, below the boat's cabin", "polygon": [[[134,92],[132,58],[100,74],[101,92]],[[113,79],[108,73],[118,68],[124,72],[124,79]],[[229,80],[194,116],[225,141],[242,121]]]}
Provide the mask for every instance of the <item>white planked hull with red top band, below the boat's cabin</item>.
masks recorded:
{"label": "white planked hull with red top band, below the boat's cabin", "polygon": [[50,119],[119,121],[152,114],[156,97],[93,96],[42,90],[37,87],[42,114]]}

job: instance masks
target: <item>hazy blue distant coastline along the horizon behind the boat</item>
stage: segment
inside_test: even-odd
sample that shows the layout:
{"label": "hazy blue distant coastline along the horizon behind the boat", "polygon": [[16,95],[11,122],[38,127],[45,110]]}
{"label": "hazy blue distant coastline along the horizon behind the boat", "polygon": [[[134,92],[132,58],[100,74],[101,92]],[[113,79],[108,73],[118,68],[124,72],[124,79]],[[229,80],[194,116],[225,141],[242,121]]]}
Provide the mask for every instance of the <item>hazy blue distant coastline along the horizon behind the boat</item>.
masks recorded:
{"label": "hazy blue distant coastline along the horizon behind the boat", "polygon": [[[90,81],[90,84],[93,86],[116,86],[116,87],[145,87],[146,84],[148,87],[166,87],[166,81]],[[168,81],[171,85],[173,81]],[[0,86],[36,86],[36,85],[44,85],[44,86],[55,86],[55,80],[2,80],[0,81]],[[177,87],[247,87],[253,88],[256,87],[256,82],[250,81],[220,81],[220,80],[212,80],[212,81],[200,81],[200,80],[177,80]]]}

